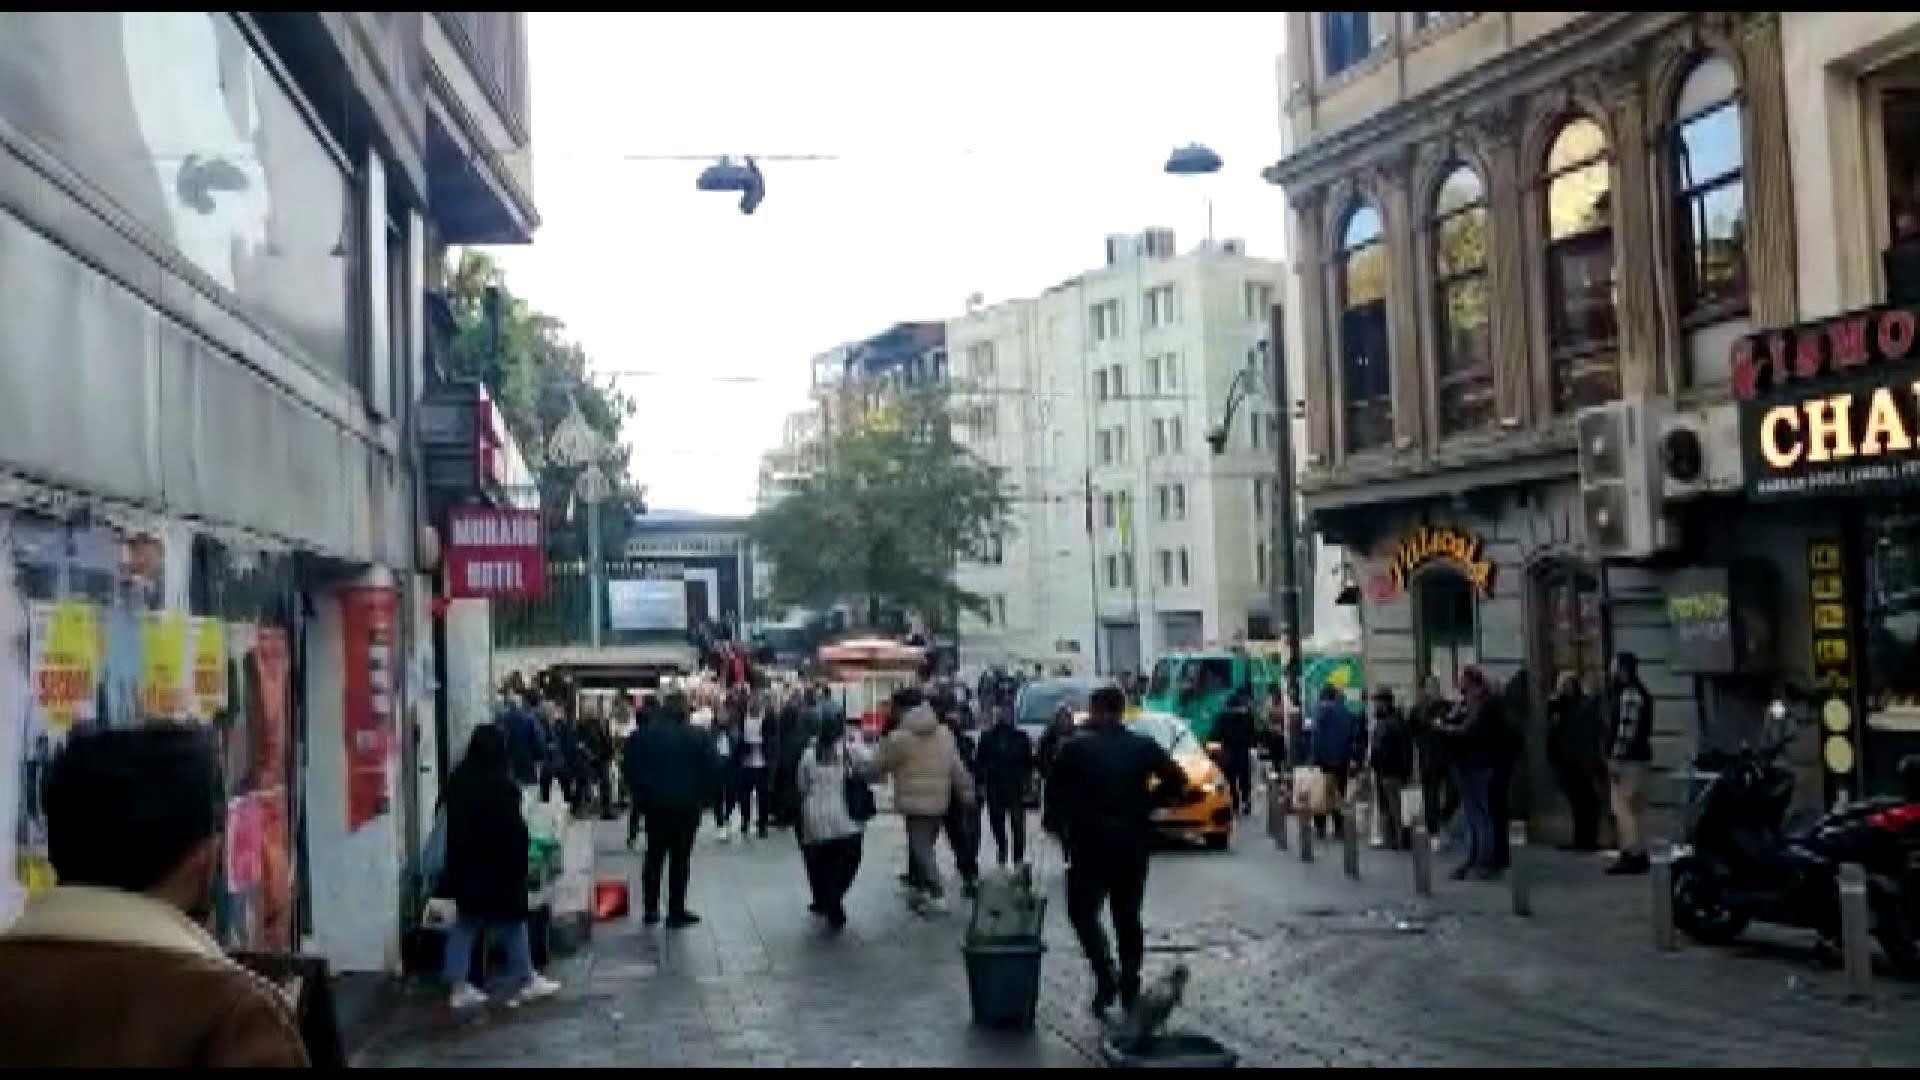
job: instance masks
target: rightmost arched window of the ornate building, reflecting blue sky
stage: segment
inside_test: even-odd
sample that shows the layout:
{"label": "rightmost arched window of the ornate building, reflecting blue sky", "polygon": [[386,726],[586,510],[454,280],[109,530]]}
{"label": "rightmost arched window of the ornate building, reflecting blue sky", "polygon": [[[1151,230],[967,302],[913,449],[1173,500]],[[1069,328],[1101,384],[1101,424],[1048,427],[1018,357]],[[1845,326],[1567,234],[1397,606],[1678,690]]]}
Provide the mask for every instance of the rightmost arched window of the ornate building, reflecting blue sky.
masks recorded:
{"label": "rightmost arched window of the ornate building, reflecting blue sky", "polygon": [[1747,307],[1747,184],[1740,158],[1740,77],[1703,60],[1674,106],[1674,240],[1680,317],[1718,323]]}

